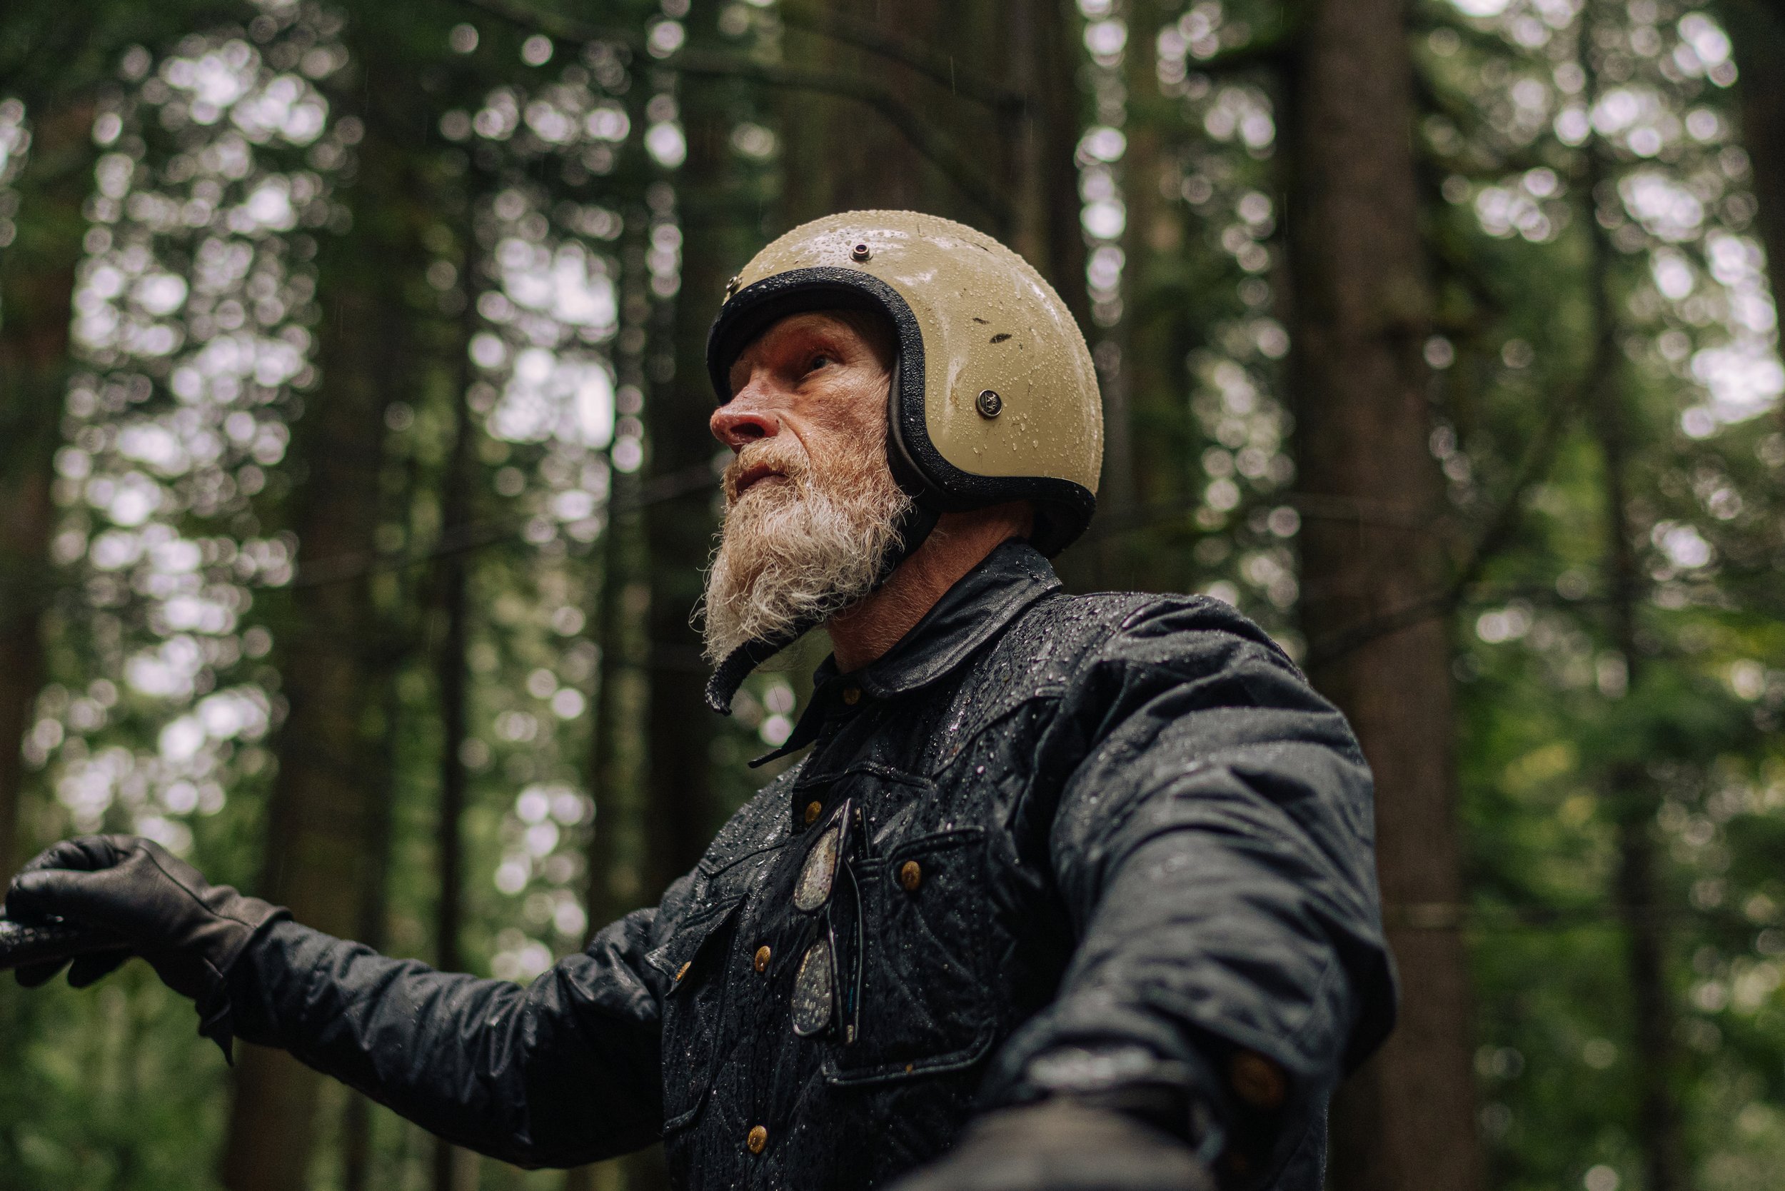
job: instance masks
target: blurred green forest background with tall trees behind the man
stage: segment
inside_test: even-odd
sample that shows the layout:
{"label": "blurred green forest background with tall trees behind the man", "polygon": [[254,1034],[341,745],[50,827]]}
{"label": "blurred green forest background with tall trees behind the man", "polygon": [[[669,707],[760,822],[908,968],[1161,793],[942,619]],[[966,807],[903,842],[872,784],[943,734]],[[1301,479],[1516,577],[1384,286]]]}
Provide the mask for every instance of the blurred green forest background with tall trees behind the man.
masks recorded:
{"label": "blurred green forest background with tall trees behind the man", "polygon": [[[0,873],[141,832],[503,980],[652,904],[825,654],[700,707],[705,329],[866,205],[1078,314],[1069,586],[1358,727],[1405,1009],[1332,1186],[1776,1186],[1776,0],[9,0]],[[662,1173],[230,1070],[141,964],[0,987],[0,1187],[214,1186]]]}

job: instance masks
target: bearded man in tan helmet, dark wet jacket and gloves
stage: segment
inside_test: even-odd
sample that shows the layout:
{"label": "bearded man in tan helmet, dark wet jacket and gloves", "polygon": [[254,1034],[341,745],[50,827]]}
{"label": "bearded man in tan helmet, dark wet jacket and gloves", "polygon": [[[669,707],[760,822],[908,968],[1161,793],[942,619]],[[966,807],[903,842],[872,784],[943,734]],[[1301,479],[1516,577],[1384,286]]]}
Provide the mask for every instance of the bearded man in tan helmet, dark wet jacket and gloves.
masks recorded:
{"label": "bearded man in tan helmet, dark wet jacket and gloves", "polygon": [[[659,1137],[677,1187],[1316,1191],[1394,986],[1342,716],[1200,596],[1066,596],[1101,412],[1046,282],[969,229],[851,212],[726,291],[735,459],[705,602],[725,711],[810,629],[809,748],[660,905],[530,987],[327,937],[129,837],[16,920],[521,1166]],[[21,970],[37,982],[55,962]]]}

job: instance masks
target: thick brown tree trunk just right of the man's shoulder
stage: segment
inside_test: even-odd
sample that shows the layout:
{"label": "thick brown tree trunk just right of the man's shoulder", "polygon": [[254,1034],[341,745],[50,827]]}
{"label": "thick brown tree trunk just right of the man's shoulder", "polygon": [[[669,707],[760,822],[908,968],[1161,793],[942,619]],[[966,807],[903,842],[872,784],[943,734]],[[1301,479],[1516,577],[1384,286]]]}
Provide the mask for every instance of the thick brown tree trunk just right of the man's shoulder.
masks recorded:
{"label": "thick brown tree trunk just right of the man's shoulder", "polygon": [[1291,79],[1289,198],[1301,487],[1344,518],[1301,534],[1314,684],[1376,775],[1376,864],[1399,1029],[1333,1105],[1341,1191],[1482,1186],[1455,825],[1449,639],[1428,618],[1357,634],[1444,580],[1421,343],[1430,293],[1399,0],[1317,0]]}

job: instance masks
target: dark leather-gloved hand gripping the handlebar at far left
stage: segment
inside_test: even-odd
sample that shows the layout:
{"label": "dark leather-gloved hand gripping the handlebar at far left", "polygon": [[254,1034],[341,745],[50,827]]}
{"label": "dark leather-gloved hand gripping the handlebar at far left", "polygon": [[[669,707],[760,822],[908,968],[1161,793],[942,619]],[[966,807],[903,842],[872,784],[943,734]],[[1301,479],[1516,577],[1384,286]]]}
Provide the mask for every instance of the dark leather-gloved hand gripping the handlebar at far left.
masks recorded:
{"label": "dark leather-gloved hand gripping the handlebar at far left", "polygon": [[[186,861],[136,836],[84,836],[48,848],[12,879],[5,912],[21,923],[61,918],[123,941],[116,950],[75,959],[68,973],[75,987],[141,955],[168,987],[200,1002],[200,1012],[248,939],[286,914],[209,884]],[[54,961],[23,966],[16,975],[25,987],[36,987],[61,970],[62,961]]]}

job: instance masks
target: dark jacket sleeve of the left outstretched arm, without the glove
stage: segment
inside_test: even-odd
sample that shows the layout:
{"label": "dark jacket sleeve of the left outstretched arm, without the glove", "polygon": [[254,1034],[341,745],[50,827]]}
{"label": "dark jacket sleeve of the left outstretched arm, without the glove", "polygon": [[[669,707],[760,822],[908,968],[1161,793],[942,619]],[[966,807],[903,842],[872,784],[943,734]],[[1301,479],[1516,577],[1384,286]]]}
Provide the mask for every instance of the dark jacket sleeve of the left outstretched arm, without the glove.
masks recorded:
{"label": "dark jacket sleeve of the left outstretched arm, without the glove", "polygon": [[577,1166],[662,1132],[660,909],[530,986],[436,971],[282,921],[228,973],[236,1034],[280,1046],[428,1132],[516,1166]]}

